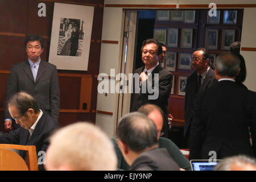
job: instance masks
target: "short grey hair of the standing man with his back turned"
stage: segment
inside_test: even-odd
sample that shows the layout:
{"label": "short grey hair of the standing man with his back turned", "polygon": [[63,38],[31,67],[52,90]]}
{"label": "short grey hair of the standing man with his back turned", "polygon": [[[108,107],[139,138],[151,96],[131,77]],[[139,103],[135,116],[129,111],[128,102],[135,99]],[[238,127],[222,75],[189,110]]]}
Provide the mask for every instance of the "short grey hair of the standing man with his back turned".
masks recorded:
{"label": "short grey hair of the standing man with his back turned", "polygon": [[214,67],[220,76],[236,77],[240,68],[240,59],[234,53],[221,53],[217,56]]}

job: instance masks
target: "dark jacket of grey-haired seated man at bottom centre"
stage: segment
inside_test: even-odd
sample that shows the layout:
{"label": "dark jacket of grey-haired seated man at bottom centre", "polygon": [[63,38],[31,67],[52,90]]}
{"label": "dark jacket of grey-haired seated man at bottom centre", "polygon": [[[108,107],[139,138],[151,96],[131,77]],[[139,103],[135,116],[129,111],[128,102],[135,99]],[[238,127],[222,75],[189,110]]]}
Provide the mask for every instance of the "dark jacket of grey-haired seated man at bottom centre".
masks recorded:
{"label": "dark jacket of grey-haired seated man at bottom centre", "polygon": [[166,148],[154,148],[142,152],[131,164],[130,171],[179,171]]}

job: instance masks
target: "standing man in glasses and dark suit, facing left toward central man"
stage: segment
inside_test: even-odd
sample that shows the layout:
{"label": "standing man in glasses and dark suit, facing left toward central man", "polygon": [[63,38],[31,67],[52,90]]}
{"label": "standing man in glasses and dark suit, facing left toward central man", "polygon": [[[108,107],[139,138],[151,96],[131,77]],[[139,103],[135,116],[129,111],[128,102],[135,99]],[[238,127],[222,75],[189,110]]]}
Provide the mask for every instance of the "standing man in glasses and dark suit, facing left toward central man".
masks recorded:
{"label": "standing man in glasses and dark suit, facing left toward central man", "polygon": [[193,72],[187,78],[185,88],[185,123],[184,123],[184,147],[189,147],[190,125],[194,108],[196,93],[210,88],[216,83],[214,71],[209,67],[209,51],[199,48],[193,52],[191,63]]}

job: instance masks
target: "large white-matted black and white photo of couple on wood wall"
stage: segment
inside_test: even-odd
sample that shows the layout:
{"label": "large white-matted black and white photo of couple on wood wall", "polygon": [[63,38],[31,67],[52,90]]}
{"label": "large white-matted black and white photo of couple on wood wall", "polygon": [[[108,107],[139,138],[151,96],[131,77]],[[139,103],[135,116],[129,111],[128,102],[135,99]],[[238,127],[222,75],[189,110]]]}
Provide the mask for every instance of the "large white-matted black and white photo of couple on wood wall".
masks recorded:
{"label": "large white-matted black and white photo of couple on wood wall", "polygon": [[49,63],[57,69],[88,70],[93,6],[55,3]]}

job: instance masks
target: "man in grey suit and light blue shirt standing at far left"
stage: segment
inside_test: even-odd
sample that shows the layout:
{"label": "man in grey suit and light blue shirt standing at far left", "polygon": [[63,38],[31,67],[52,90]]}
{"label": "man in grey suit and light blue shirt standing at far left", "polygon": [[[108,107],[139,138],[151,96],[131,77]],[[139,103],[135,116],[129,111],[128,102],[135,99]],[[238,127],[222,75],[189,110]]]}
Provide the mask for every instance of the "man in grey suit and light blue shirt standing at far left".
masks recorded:
{"label": "man in grey suit and light blue shirt standing at far left", "polygon": [[55,65],[40,59],[44,50],[43,38],[39,35],[29,35],[24,46],[28,59],[13,65],[6,86],[6,130],[13,129],[7,102],[13,94],[19,91],[25,91],[34,96],[38,101],[39,109],[46,111],[56,121],[59,118],[60,89],[57,69]]}

